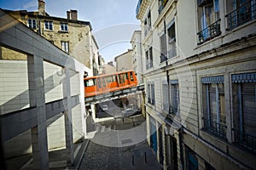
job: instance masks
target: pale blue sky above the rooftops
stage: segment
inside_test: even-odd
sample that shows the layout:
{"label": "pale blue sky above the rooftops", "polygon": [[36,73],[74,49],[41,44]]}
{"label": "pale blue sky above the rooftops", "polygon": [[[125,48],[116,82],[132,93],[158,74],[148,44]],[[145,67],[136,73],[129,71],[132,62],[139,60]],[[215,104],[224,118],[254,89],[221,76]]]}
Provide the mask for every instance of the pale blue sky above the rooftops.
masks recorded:
{"label": "pale blue sky above the rooftops", "polygon": [[[67,10],[78,10],[79,20],[90,21],[106,62],[131,48],[133,31],[140,30],[136,19],[138,0],[44,0],[51,16],[67,18]],[[0,0],[0,8],[37,11],[38,0]]]}

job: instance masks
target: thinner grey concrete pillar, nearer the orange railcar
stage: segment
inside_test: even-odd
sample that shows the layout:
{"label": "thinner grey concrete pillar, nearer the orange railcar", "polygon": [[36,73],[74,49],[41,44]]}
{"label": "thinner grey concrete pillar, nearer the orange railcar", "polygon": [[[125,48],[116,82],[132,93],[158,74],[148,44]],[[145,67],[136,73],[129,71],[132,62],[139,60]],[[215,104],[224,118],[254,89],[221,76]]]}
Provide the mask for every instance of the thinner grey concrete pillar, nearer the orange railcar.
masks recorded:
{"label": "thinner grey concrete pillar, nearer the orange railcar", "polygon": [[70,91],[70,71],[65,68],[65,77],[63,78],[63,97],[64,97],[64,116],[65,116],[65,136],[66,136],[66,151],[67,165],[72,165],[73,157],[73,123],[72,123],[72,106],[71,106],[71,91]]}

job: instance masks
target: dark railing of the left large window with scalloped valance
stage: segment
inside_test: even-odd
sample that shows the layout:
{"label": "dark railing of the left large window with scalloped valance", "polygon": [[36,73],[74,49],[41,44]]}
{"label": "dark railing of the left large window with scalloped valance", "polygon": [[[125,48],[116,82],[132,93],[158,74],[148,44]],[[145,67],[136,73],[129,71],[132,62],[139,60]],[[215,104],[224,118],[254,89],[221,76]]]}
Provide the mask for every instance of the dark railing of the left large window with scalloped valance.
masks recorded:
{"label": "dark railing of the left large window with scalloped valance", "polygon": [[204,117],[204,129],[208,132],[218,136],[219,138],[226,139],[226,123],[225,123],[225,117],[220,117],[219,122],[217,121],[217,118],[214,116],[210,116],[211,118],[208,119],[207,117]]}

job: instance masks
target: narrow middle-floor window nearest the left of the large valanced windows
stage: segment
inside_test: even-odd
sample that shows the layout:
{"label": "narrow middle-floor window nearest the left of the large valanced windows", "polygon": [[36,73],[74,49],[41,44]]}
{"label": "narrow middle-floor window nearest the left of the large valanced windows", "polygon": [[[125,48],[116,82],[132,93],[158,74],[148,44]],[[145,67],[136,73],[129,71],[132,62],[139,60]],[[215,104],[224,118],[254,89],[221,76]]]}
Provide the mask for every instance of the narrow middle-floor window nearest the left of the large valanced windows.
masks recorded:
{"label": "narrow middle-floor window nearest the left of the large valanced windows", "polygon": [[179,93],[178,93],[178,81],[171,80],[171,113],[177,114],[179,110]]}

